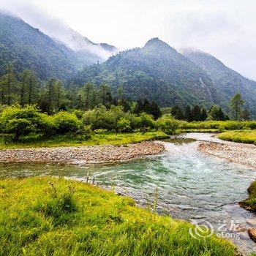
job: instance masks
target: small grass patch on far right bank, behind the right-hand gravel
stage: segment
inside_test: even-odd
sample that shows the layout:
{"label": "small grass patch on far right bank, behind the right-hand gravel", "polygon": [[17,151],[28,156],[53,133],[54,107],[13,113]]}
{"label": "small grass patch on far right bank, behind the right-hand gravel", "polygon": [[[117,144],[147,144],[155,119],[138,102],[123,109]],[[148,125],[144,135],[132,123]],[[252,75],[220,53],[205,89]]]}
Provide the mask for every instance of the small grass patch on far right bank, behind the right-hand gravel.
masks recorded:
{"label": "small grass patch on far right bank, behind the right-hand gravel", "polygon": [[227,131],[219,135],[222,140],[230,140],[240,143],[252,143],[256,145],[256,129],[243,131]]}

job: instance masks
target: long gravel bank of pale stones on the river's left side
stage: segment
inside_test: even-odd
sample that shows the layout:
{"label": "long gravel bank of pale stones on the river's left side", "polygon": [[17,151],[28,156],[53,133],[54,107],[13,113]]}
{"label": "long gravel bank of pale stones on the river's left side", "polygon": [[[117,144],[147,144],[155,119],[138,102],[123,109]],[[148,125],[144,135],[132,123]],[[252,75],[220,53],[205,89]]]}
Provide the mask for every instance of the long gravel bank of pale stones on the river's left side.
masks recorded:
{"label": "long gravel bank of pale stones on the river's left side", "polygon": [[164,150],[165,146],[152,141],[122,146],[4,149],[0,150],[0,162],[65,162],[91,165],[125,162],[159,154]]}

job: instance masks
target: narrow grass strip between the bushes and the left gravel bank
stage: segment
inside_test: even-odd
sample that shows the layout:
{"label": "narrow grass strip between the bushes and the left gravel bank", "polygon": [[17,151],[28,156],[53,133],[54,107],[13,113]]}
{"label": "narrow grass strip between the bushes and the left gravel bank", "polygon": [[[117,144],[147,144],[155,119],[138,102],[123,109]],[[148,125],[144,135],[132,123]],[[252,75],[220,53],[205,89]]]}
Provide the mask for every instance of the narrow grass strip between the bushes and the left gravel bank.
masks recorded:
{"label": "narrow grass strip between the bushes and the left gravel bank", "polygon": [[31,135],[21,138],[16,143],[0,143],[0,149],[7,148],[39,148],[58,146],[94,146],[94,145],[121,145],[128,143],[139,143],[144,140],[157,140],[169,138],[164,132],[129,132],[114,133],[100,132],[91,134],[91,138],[73,137],[70,135],[56,135],[50,138],[42,138],[39,135]]}

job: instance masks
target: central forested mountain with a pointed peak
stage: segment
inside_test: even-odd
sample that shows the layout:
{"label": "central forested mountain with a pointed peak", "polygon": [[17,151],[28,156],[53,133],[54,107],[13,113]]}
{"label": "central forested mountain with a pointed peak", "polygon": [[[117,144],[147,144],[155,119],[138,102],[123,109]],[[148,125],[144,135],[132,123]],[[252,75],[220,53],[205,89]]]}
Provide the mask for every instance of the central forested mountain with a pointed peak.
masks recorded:
{"label": "central forested mountain with a pointed peak", "polygon": [[89,81],[108,83],[113,89],[123,86],[127,97],[148,97],[161,106],[209,106],[218,101],[206,71],[158,38],[86,67],[72,79],[78,85]]}

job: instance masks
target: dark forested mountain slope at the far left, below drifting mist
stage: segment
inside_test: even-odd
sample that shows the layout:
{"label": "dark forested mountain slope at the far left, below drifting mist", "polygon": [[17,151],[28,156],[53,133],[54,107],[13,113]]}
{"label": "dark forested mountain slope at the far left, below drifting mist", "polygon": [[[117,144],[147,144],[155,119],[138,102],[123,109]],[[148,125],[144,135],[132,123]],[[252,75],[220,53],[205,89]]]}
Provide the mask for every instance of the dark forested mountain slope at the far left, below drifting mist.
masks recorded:
{"label": "dark forested mountain slope at the far left, below drifting mist", "polygon": [[17,72],[34,69],[41,79],[67,79],[83,67],[83,61],[72,49],[56,43],[20,18],[0,12],[0,75],[9,63]]}

